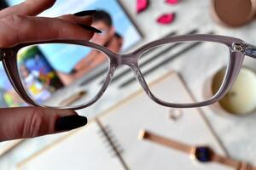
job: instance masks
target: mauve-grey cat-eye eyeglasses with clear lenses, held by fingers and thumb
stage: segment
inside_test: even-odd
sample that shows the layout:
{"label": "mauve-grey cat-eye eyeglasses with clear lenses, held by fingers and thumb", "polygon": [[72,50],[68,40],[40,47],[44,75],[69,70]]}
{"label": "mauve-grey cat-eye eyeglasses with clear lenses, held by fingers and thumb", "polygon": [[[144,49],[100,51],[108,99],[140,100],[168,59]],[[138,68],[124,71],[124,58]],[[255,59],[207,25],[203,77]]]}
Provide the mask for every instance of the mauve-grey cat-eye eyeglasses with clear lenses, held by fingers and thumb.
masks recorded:
{"label": "mauve-grey cat-eye eyeglasses with clear lenses, held by fingers and thumb", "polygon": [[[182,53],[184,48],[194,47],[195,44],[197,47],[189,53]],[[161,53],[162,51],[166,53]],[[178,58],[169,59],[177,55]],[[216,35],[166,37],[149,42],[130,54],[115,54],[96,43],[80,40],[29,42],[14,48],[0,49],[0,59],[3,61],[9,81],[28,104],[74,110],[85,108],[100,99],[119,65],[128,65],[148,97],[159,105],[176,108],[212,105],[222,99],[235,82],[245,55],[256,58],[256,47],[234,37]],[[65,65],[73,65],[78,58],[84,65],[80,65],[79,70],[63,73]],[[170,62],[163,66],[165,69],[185,70],[188,73],[187,77],[192,77],[189,72],[193,72],[194,77],[198,79],[208,77],[212,72],[223,67],[226,68],[225,76],[220,81],[215,94],[207,99],[202,97],[195,103],[189,103],[189,99],[172,96],[170,89],[177,87],[177,82],[170,80],[170,88],[165,89],[148,86],[151,77],[145,75],[146,63],[150,59],[156,59],[154,62],[167,59]],[[78,96],[73,96],[78,89],[73,88],[72,85],[64,86],[82,77],[93,78],[91,72],[99,65],[108,66],[108,70],[102,74],[104,82],[85,83],[86,90]],[[200,85],[196,83],[195,80],[195,86]],[[67,105],[63,99],[67,99],[68,96],[79,100]]]}

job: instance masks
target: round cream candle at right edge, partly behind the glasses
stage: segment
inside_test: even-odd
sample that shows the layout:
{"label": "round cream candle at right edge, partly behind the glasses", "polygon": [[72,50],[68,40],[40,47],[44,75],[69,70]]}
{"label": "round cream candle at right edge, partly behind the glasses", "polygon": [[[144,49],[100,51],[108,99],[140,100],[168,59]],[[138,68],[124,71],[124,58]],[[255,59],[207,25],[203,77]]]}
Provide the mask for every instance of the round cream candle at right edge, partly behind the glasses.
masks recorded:
{"label": "round cream candle at right edge, partly behind the glasses", "polygon": [[[225,69],[219,70],[212,78],[212,93],[220,86]],[[227,112],[236,116],[247,116],[256,111],[256,74],[253,70],[243,67],[236,82],[224,99],[219,100],[217,112]],[[217,108],[216,108],[217,109]],[[221,111],[224,110],[224,111]]]}

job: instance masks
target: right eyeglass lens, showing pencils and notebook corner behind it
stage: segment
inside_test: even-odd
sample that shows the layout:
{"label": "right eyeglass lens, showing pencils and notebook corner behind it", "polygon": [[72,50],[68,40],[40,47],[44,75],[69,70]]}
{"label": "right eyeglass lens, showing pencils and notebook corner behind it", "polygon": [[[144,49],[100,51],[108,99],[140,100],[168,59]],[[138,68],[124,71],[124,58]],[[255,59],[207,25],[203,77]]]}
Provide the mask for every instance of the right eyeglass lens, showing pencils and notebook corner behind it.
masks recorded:
{"label": "right eyeglass lens, showing pencils and notebook corner behind it", "polygon": [[[193,48],[195,47],[196,48]],[[183,50],[188,48],[189,51],[183,53]],[[212,53],[216,51],[216,53]],[[227,68],[229,64],[230,50],[227,46],[218,42],[172,42],[151,48],[143,53],[138,59],[138,65],[143,72],[147,84],[152,82],[155,75],[148,74],[148,68],[145,66],[148,60],[154,59],[154,65],[162,65],[160,69],[162,72],[176,71],[182,72],[184,79],[190,81],[190,91],[195,94],[200,94],[196,103],[203,102],[211,99],[212,96],[217,94],[218,90],[214,93],[205,93],[200,87],[206,87],[210,77],[221,68]],[[152,66],[151,66],[152,67]],[[193,72],[193,74],[191,74]],[[160,76],[160,75],[159,75]],[[201,81],[201,78],[209,77],[209,80]],[[218,89],[224,82],[224,77],[219,80]],[[177,82],[170,81],[170,88],[156,89],[154,86],[149,86],[150,91],[154,96],[162,101],[172,104],[190,104],[191,99],[186,98],[186,94],[179,96],[173,95],[173,88],[180,86]],[[164,87],[163,87],[164,88]],[[172,90],[171,90],[172,89]],[[170,97],[166,93],[169,93]]]}

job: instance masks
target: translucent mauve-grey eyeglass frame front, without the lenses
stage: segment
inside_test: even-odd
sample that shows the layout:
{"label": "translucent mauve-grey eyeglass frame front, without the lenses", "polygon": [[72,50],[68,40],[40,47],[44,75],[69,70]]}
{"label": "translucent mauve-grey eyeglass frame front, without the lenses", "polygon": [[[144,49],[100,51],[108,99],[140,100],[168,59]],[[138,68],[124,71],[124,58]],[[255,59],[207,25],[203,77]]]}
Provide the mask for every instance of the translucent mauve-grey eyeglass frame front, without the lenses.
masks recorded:
{"label": "translucent mauve-grey eyeglass frame front, without the lenses", "polygon": [[[214,96],[212,96],[211,99],[208,99],[203,102],[198,102],[198,103],[173,104],[173,103],[165,102],[161,99],[158,99],[150,91],[150,89],[148,88],[148,84],[145,81],[143,74],[138,67],[137,60],[139,59],[140,55],[146,52],[148,49],[154,48],[156,46],[160,46],[162,44],[169,43],[169,42],[218,42],[218,43],[224,44],[230,49],[230,61],[224,77],[224,82],[221,85],[218,92]],[[24,48],[26,46],[31,46],[31,45],[42,44],[42,43],[70,43],[70,44],[83,45],[86,47],[95,48],[96,50],[99,50],[103,54],[106,54],[108,56],[108,59],[110,60],[108,74],[107,74],[107,77],[105,78],[105,81],[102,84],[102,88],[99,90],[98,94],[96,94],[95,98],[90,99],[90,101],[84,105],[73,106],[73,107],[71,106],[50,107],[45,105],[39,105],[38,103],[33,101],[28,94],[26,94],[26,90],[24,89],[23,84],[20,81],[20,76],[19,76],[17,62],[16,62],[16,59],[17,59],[16,55],[20,50],[20,48]],[[224,95],[227,94],[232,84],[235,82],[236,77],[238,76],[239,71],[241,70],[241,65],[246,53],[244,50],[243,51],[234,50],[233,48],[234,44],[241,44],[245,47],[247,46],[247,43],[235,37],[225,37],[225,36],[208,35],[208,34],[193,34],[193,35],[183,35],[183,36],[162,38],[154,42],[148,42],[147,44],[143,45],[140,48],[137,48],[135,51],[131,52],[130,54],[115,54],[112,51],[110,51],[108,48],[100,46],[94,42],[88,42],[84,40],[54,40],[54,41],[26,42],[26,43],[20,43],[13,48],[0,48],[0,56],[1,54],[5,54],[5,56],[8,56],[8,57],[3,57],[3,67],[7,73],[7,76],[9,77],[9,81],[15,88],[15,91],[20,95],[20,97],[24,99],[26,103],[32,106],[41,106],[41,107],[55,108],[55,109],[72,109],[72,110],[84,109],[90,105],[93,105],[94,103],[96,103],[98,99],[102,97],[102,94],[104,94],[104,92],[108,88],[108,84],[112,80],[113,73],[116,70],[116,68],[119,65],[128,65],[131,67],[131,70],[134,71],[138,82],[140,82],[142,88],[144,89],[146,94],[148,94],[148,97],[154,100],[154,102],[156,102],[157,104],[163,105],[166,107],[173,107],[173,108],[193,108],[193,107],[202,107],[206,105],[212,105],[213,103],[217,102],[219,99],[222,99]]]}

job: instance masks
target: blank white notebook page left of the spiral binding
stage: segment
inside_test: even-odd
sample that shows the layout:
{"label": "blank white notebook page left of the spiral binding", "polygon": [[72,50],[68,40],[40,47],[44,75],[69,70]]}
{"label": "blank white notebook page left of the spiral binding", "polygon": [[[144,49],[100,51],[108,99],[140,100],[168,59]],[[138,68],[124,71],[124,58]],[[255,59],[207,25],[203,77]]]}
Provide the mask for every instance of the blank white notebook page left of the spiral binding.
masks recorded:
{"label": "blank white notebook page left of the spiral binding", "polygon": [[96,122],[91,122],[21,162],[18,167],[20,170],[122,169],[99,132]]}

